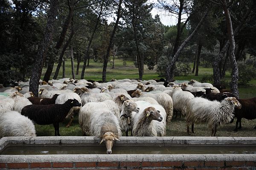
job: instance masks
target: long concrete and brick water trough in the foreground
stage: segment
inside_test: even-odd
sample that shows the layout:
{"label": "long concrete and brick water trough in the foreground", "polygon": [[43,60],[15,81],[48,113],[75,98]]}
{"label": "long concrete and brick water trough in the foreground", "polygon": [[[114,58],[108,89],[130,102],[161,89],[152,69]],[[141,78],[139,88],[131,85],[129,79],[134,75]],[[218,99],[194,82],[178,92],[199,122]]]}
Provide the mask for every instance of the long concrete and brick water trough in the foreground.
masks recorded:
{"label": "long concrete and brick water trough in the foreground", "polygon": [[4,137],[0,169],[256,168],[256,137],[121,137],[112,154],[99,142],[93,136]]}

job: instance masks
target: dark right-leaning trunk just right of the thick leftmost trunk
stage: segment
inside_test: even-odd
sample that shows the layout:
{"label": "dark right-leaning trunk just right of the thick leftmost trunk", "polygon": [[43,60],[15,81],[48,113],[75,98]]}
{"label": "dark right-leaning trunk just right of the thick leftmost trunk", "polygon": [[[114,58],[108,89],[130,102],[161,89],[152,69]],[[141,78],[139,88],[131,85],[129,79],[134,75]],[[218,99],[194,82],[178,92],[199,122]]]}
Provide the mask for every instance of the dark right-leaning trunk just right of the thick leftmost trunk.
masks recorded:
{"label": "dark right-leaning trunk just right of the thick leftmost trunk", "polygon": [[[74,3],[75,1],[74,0],[67,0],[67,3],[68,3],[68,6],[69,6],[69,12],[68,12],[68,16],[64,22],[64,26],[62,28],[62,31],[61,31],[61,35],[59,37],[59,40],[55,46],[55,54],[54,56],[57,56],[58,55],[58,50],[61,48],[61,45],[63,44],[63,41],[65,39],[65,36],[67,34],[67,28],[69,27],[71,21],[72,21],[72,17],[73,17],[73,6],[74,6]],[[49,63],[48,63],[48,67],[47,67],[47,71],[46,73],[44,74],[44,81],[48,82],[50,77],[51,77],[51,74],[52,74],[52,69],[53,69],[53,65],[54,65],[54,60],[55,58],[52,57],[50,60],[49,60]]]}

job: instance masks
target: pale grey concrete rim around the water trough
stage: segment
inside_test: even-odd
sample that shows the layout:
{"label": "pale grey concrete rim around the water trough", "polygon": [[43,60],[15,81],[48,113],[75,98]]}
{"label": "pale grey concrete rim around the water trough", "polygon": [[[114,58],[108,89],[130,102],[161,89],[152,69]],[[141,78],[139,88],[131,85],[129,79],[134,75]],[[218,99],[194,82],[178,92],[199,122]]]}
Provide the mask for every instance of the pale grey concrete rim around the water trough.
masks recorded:
{"label": "pale grey concrete rim around the water trough", "polygon": [[[120,137],[116,144],[135,142],[164,144],[253,144],[256,137],[209,137],[209,136],[163,136],[163,137]],[[10,143],[24,144],[72,144],[74,142],[99,143],[95,136],[38,136],[3,137],[0,139],[0,151]],[[256,154],[65,154],[65,155],[0,155],[2,162],[112,162],[112,161],[255,161]]]}

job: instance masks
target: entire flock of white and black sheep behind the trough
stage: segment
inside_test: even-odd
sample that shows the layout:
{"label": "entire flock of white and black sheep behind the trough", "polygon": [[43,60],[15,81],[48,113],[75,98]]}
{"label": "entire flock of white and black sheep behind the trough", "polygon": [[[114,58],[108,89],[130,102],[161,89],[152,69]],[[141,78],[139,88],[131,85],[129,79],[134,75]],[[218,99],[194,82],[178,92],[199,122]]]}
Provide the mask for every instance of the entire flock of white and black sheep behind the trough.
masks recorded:
{"label": "entire flock of white and black sheep behind the trough", "polygon": [[[0,85],[0,138],[36,136],[34,123],[53,124],[60,136],[59,122],[79,116],[85,136],[98,136],[107,153],[119,136],[165,136],[166,123],[173,113],[185,116],[187,133],[195,123],[207,123],[215,136],[217,127],[237,117],[256,118],[256,98],[239,99],[224,85],[191,81],[166,82],[164,79],[93,80],[58,79],[40,81],[39,97],[29,92],[29,82],[19,86]],[[238,124],[240,126],[238,127]],[[256,127],[255,127],[256,128]]]}

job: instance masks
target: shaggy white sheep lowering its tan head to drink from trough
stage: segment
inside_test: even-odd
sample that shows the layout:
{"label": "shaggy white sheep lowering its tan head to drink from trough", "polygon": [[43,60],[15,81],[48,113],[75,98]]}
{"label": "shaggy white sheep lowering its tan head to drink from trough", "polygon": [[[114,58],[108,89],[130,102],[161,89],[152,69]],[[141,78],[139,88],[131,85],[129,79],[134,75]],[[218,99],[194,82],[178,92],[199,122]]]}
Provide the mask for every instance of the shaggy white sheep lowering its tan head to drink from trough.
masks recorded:
{"label": "shaggy white sheep lowering its tan head to drink from trough", "polygon": [[113,141],[122,136],[118,119],[111,112],[94,111],[90,116],[90,136],[98,136],[105,142],[107,153],[112,153]]}

